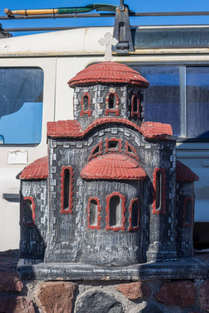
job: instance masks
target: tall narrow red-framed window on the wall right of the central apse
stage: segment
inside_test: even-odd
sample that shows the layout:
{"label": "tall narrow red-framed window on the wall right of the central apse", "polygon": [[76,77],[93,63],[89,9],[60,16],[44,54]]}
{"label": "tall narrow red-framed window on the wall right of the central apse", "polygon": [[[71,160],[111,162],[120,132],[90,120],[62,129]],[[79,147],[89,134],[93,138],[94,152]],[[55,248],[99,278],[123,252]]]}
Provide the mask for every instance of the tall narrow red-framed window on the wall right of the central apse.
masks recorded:
{"label": "tall narrow red-framed window on the wall right of the central apse", "polygon": [[165,214],[165,170],[164,168],[155,168],[154,170],[154,202],[153,214]]}

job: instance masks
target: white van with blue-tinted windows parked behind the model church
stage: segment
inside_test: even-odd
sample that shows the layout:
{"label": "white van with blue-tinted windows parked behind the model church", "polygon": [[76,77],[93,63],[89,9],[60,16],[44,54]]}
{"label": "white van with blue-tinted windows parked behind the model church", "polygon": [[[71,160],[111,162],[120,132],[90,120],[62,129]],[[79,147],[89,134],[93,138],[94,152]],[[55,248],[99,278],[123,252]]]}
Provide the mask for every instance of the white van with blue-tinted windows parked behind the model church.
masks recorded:
{"label": "white van with blue-tinted windows parked behind the model church", "polygon": [[[112,27],[79,28],[0,39],[0,251],[19,244],[19,180],[27,164],[47,155],[48,121],[73,119],[67,81],[103,61],[98,40]],[[199,175],[197,229],[209,222],[209,26],[132,29],[135,51],[114,55],[148,79],[145,120],[170,123],[177,159]],[[199,225],[199,226],[198,226]],[[197,231],[196,241],[201,238]]]}

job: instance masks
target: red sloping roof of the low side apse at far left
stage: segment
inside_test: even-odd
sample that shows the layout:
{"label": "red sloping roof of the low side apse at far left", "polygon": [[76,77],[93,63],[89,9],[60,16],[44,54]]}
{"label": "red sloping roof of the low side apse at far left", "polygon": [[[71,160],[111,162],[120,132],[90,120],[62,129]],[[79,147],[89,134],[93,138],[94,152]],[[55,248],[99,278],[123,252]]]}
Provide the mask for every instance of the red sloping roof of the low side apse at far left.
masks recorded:
{"label": "red sloping roof of the low side apse at far left", "polygon": [[48,156],[35,160],[26,166],[16,178],[20,180],[37,180],[47,178],[49,175]]}

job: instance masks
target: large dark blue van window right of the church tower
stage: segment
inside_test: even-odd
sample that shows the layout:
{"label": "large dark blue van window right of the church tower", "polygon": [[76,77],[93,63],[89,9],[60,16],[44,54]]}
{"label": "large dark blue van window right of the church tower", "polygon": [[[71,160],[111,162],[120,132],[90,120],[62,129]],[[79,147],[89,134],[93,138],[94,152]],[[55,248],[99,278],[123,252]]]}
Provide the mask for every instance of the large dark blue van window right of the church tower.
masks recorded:
{"label": "large dark blue van window right of the church tower", "polygon": [[209,138],[209,66],[132,66],[150,82],[144,120],[172,125],[174,136]]}

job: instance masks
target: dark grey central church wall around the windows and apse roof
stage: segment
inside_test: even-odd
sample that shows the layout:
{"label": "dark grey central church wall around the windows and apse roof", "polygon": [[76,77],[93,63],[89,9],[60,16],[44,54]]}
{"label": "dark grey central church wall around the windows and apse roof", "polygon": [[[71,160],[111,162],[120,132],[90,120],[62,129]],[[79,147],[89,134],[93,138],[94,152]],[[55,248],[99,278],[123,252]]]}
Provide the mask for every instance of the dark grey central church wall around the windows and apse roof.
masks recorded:
{"label": "dark grey central church wall around the windows and apse roof", "polygon": [[[104,153],[107,138],[121,139],[122,153],[125,152],[126,141],[136,149],[139,163],[148,174],[145,181],[120,183],[111,180],[94,182],[82,180],[80,171],[89,162],[92,149],[102,141]],[[45,261],[129,265],[145,262],[147,258],[153,260],[176,257],[175,158],[175,141],[147,140],[128,126],[118,126],[114,123],[98,126],[82,140],[49,139],[49,242]],[[62,166],[68,165],[73,168],[73,213],[60,214],[60,173]],[[165,170],[166,214],[152,214],[155,168]],[[114,232],[105,229],[106,197],[112,192],[120,192],[126,197],[125,231]],[[98,197],[100,202],[100,230],[87,230],[87,205],[90,196]],[[128,231],[129,206],[131,199],[136,197],[140,199],[140,227],[133,233]],[[118,242],[120,237],[123,238],[123,243],[119,248],[113,242]],[[134,244],[133,248],[130,243]],[[103,249],[104,244],[107,244],[106,251]],[[97,251],[96,254],[93,253],[93,249]],[[108,249],[111,251],[110,254],[107,253]],[[122,249],[124,253],[127,251],[127,259],[123,253],[119,253]]]}

